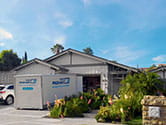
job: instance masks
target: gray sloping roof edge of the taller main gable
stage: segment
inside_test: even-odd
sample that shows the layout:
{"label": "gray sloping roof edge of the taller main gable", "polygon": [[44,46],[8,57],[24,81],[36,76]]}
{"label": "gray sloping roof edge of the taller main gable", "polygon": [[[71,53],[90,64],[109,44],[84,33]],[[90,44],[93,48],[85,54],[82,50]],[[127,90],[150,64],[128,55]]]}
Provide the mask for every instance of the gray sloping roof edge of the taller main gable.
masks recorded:
{"label": "gray sloping roof edge of the taller main gable", "polygon": [[118,66],[118,67],[121,67],[121,68],[124,68],[124,69],[127,69],[127,70],[130,70],[130,71],[133,71],[133,72],[138,72],[138,69],[137,68],[134,68],[134,67],[130,67],[130,66],[126,66],[126,65],[123,65],[123,64],[120,64],[116,61],[111,61],[111,60],[107,60],[107,59],[104,59],[104,58],[101,58],[101,57],[98,57],[98,56],[94,56],[94,55],[89,55],[89,54],[86,54],[86,53],[83,53],[83,52],[80,52],[80,51],[77,51],[77,50],[74,50],[74,49],[67,49],[57,55],[53,55],[49,58],[46,58],[44,61],[45,62],[49,62],[51,60],[54,60],[66,53],[76,53],[76,54],[79,54],[79,55],[83,55],[83,56],[86,56],[86,57],[89,57],[89,58],[92,58],[92,59],[95,59],[95,60],[98,60],[98,61],[101,61],[103,63],[106,63],[106,64],[111,64],[111,65],[114,65],[114,66]]}

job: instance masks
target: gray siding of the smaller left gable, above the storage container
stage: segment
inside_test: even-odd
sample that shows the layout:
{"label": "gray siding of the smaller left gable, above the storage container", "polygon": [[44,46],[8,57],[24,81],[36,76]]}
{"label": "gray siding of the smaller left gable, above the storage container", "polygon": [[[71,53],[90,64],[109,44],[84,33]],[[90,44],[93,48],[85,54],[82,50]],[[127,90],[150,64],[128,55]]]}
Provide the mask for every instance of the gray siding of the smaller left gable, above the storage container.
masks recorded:
{"label": "gray siding of the smaller left gable, above the storage container", "polygon": [[25,68],[16,71],[16,75],[23,74],[55,74],[55,71],[47,66],[33,63],[31,65],[26,66]]}

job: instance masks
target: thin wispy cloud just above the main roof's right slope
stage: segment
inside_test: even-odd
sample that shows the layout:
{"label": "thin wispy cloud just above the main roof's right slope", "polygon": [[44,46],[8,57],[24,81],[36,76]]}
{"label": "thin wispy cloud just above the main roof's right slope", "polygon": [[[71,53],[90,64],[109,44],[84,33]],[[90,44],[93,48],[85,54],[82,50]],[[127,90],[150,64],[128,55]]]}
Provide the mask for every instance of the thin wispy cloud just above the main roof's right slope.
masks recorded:
{"label": "thin wispy cloud just above the main roof's right slope", "polygon": [[115,59],[123,63],[130,63],[145,55],[144,51],[135,50],[128,46],[118,46],[114,51]]}

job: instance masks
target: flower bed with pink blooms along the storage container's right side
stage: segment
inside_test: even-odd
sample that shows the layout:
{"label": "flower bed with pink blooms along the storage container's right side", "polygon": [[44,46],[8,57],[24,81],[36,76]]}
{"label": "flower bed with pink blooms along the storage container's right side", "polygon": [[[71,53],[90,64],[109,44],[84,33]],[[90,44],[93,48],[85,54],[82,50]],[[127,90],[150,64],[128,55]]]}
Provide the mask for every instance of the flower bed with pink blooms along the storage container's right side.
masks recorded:
{"label": "flower bed with pink blooms along the storage container's right side", "polygon": [[52,118],[83,117],[83,113],[99,109],[100,106],[107,106],[109,98],[110,96],[104,94],[104,91],[97,89],[80,93],[79,96],[73,95],[64,99],[56,99],[53,107],[49,102],[47,107]]}

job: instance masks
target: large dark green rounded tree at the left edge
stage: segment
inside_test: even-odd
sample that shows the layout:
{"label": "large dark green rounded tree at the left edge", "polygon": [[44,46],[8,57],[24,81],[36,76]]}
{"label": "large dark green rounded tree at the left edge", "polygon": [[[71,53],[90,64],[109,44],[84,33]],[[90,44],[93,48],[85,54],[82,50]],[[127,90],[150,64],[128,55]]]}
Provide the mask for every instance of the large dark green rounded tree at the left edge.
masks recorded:
{"label": "large dark green rounded tree at the left edge", "polygon": [[0,53],[0,70],[1,71],[8,71],[17,66],[21,63],[21,59],[17,56],[13,50],[3,50]]}

